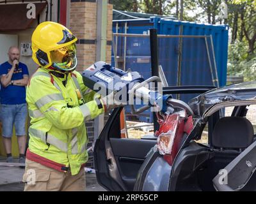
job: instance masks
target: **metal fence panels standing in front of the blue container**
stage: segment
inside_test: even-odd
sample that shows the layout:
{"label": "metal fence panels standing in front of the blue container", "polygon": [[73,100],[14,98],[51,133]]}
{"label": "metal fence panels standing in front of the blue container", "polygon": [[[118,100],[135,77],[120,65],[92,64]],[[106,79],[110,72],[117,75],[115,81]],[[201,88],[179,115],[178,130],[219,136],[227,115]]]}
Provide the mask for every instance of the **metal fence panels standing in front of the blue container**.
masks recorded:
{"label": "metal fence panels standing in front of the blue container", "polygon": [[[163,69],[169,86],[214,85],[218,83],[212,36],[158,34],[159,66]],[[150,38],[148,34],[113,33],[112,65],[138,71],[145,79],[151,76]],[[195,94],[174,96],[188,102]],[[130,113],[127,108],[127,115]],[[131,117],[137,117],[131,115]],[[150,112],[139,120],[152,122]]]}

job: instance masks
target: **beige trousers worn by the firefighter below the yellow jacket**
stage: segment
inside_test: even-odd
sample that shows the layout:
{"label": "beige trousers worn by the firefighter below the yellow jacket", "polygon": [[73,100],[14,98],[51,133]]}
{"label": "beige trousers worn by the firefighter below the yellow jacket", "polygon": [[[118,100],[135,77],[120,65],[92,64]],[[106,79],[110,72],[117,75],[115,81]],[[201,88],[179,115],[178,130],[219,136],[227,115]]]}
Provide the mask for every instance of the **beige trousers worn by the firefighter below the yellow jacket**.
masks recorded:
{"label": "beige trousers worn by the firefighter below the yellow jacket", "polygon": [[72,176],[70,170],[57,171],[29,159],[22,182],[24,191],[85,191],[86,186],[84,168]]}

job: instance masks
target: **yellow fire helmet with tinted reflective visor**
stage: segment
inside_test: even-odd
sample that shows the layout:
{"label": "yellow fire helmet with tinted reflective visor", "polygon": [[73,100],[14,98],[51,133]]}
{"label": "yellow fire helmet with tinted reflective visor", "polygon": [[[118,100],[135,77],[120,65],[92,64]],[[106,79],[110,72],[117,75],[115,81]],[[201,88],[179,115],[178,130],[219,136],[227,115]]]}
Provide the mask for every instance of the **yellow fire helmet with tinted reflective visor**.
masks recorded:
{"label": "yellow fire helmet with tinted reflective visor", "polygon": [[39,24],[31,39],[32,58],[39,66],[69,73],[76,69],[76,41],[67,27],[56,22]]}

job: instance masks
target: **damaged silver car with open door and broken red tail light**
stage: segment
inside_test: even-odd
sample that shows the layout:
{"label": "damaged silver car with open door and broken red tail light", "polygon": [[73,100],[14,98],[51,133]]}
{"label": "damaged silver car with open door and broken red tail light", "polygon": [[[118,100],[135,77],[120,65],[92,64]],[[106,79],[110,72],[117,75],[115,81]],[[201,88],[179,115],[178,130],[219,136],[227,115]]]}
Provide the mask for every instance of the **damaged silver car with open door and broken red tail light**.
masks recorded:
{"label": "damaged silver car with open door and broken red tail light", "polygon": [[[186,114],[180,116],[183,130],[167,153],[159,150],[159,137],[122,138],[122,108],[116,108],[95,143],[99,184],[108,191],[255,190],[256,142],[248,110],[256,105],[256,82],[209,89],[164,89],[164,94],[201,92],[188,104],[168,103],[173,108],[170,115],[180,115],[180,110]],[[186,124],[190,128],[184,128]],[[208,142],[198,142],[205,132]]]}

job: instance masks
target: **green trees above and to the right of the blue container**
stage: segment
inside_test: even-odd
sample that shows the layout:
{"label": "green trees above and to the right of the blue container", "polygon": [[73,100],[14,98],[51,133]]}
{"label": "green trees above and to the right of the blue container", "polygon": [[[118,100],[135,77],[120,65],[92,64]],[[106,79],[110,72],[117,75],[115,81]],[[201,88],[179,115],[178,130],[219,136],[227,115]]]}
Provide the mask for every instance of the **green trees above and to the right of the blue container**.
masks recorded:
{"label": "green trees above and to the right of the blue container", "polygon": [[[256,0],[183,0],[182,19],[228,24],[228,75],[244,75],[245,80],[256,80]],[[167,15],[180,19],[180,0],[114,0],[114,8]],[[228,6],[228,18],[219,17],[220,4]],[[178,8],[178,10],[177,10]],[[193,17],[191,17],[193,13]]]}

